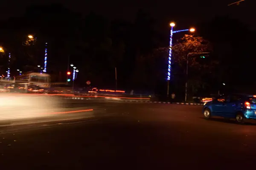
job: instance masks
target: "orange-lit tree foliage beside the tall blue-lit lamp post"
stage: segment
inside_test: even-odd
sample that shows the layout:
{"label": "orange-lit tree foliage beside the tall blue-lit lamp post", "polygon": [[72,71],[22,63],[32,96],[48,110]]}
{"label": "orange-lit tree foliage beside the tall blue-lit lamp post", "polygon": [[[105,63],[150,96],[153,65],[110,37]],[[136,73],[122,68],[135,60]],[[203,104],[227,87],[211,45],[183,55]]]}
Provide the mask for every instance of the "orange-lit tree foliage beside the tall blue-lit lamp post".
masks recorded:
{"label": "orange-lit tree foliage beside the tall blue-lit lamp post", "polygon": [[[186,61],[188,57],[188,92],[190,95],[197,94],[199,90],[207,86],[208,76],[217,64],[216,61],[211,59],[211,55],[200,54],[212,52],[211,44],[203,37],[184,35],[173,45],[172,49],[174,79],[178,83],[186,81]],[[202,55],[206,58],[200,58]]]}

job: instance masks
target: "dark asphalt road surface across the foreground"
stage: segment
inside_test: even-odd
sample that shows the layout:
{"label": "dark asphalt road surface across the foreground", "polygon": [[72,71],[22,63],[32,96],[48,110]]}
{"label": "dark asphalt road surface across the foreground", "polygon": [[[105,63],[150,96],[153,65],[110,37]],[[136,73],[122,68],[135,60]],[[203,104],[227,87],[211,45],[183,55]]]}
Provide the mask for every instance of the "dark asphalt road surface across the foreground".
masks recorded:
{"label": "dark asphalt road surface across the foreground", "polygon": [[[88,118],[0,127],[1,169],[254,167],[256,125],[206,120],[201,106],[88,102]],[[74,116],[89,112],[74,113]],[[68,113],[72,117],[72,113]],[[256,123],[256,122],[255,122]]]}

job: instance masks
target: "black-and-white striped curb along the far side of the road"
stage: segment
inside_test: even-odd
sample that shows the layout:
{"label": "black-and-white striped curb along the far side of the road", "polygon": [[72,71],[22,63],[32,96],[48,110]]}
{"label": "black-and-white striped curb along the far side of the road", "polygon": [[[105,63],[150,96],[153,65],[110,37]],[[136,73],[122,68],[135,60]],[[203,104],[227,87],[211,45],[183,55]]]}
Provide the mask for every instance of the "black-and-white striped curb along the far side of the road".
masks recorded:
{"label": "black-and-white striped curb along the far side of the road", "polygon": [[[73,100],[84,100],[88,99],[85,97],[65,97],[65,99]],[[204,105],[202,103],[184,103],[184,102],[151,102],[151,101],[141,101],[141,100],[122,100],[124,102],[136,102],[136,103],[159,103],[159,104],[175,104],[175,105]]]}

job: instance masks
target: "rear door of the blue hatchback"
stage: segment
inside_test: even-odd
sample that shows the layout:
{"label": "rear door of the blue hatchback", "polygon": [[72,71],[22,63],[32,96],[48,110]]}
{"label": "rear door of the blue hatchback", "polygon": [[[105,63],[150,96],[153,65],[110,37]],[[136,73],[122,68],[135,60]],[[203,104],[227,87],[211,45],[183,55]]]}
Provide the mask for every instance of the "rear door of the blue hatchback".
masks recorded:
{"label": "rear door of the blue hatchback", "polygon": [[222,113],[223,117],[229,117],[229,118],[235,117],[236,109],[242,97],[243,96],[236,95],[236,94],[227,96],[226,108],[224,108],[224,113]]}

